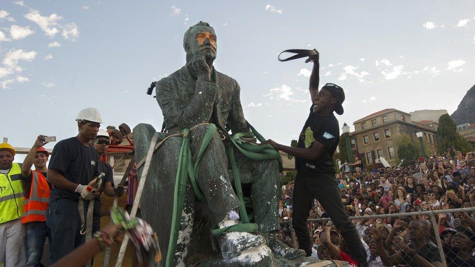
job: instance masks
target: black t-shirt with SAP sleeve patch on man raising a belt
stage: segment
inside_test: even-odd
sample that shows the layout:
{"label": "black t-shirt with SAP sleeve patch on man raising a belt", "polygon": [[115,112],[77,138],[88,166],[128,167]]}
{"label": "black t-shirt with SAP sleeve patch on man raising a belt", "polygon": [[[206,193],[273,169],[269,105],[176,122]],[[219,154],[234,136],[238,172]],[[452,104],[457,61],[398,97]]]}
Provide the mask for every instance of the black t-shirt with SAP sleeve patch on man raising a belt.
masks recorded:
{"label": "black t-shirt with SAP sleeve patch on man raising a belt", "polygon": [[316,160],[295,158],[295,168],[306,177],[314,177],[319,173],[335,173],[333,153],[335,153],[340,140],[340,127],[333,114],[320,116],[313,113],[313,105],[310,115],[298,138],[298,148],[311,148],[315,141],[325,145],[327,149]]}

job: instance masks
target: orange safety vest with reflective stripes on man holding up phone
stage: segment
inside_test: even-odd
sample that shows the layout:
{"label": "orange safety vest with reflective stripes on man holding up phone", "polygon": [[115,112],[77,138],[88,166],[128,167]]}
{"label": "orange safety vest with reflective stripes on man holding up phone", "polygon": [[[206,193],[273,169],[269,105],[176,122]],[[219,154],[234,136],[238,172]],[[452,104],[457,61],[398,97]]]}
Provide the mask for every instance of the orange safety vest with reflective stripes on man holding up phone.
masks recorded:
{"label": "orange safety vest with reflective stripes on man holding up phone", "polygon": [[38,172],[32,171],[30,197],[23,200],[24,211],[21,223],[45,222],[45,211],[50,202],[50,187],[46,178]]}

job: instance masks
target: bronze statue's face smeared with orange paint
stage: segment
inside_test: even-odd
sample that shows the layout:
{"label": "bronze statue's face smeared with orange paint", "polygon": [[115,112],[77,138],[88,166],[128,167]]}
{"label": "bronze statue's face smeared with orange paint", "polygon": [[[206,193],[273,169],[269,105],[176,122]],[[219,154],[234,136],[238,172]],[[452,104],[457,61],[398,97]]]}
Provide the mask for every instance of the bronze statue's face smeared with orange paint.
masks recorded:
{"label": "bronze statue's face smeared with orange paint", "polygon": [[216,59],[218,43],[214,31],[209,28],[198,29],[190,40],[190,50],[195,55],[204,55],[207,60]]}

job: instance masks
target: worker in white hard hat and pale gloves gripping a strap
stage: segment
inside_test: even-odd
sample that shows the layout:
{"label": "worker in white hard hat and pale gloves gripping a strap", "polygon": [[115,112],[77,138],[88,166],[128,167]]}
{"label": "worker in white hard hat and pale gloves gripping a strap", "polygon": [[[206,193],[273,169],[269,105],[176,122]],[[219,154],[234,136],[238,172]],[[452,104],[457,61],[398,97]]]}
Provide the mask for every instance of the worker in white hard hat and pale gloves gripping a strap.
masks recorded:
{"label": "worker in white hard hat and pale gloves gripping a strap", "polygon": [[102,123],[101,114],[87,107],[76,117],[78,134],[59,141],[53,149],[47,179],[53,184],[46,222],[53,237],[50,264],[84,243],[79,198],[94,198],[93,179],[97,172],[98,154],[90,141],[94,140]]}

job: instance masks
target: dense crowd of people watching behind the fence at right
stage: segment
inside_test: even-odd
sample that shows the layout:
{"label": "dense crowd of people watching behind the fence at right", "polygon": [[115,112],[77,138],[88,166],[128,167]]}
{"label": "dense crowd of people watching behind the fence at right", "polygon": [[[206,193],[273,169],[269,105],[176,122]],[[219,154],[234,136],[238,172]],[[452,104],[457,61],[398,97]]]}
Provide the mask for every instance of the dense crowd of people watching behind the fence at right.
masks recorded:
{"label": "dense crowd of people watching behind the fence at right", "polygon": [[[374,170],[364,168],[358,157],[354,162],[343,164],[335,178],[348,216],[383,214],[352,221],[370,266],[442,266],[434,228],[447,266],[475,266],[475,212],[437,213],[437,225],[432,224],[430,215],[431,211],[475,207],[474,152],[464,155],[447,149],[441,156]],[[292,192],[293,182],[284,186],[279,201],[282,229],[278,234],[291,247]],[[328,217],[314,200],[309,218]],[[331,223],[310,220],[308,228],[313,257],[352,262],[341,233]]]}

